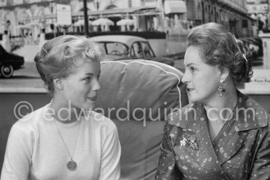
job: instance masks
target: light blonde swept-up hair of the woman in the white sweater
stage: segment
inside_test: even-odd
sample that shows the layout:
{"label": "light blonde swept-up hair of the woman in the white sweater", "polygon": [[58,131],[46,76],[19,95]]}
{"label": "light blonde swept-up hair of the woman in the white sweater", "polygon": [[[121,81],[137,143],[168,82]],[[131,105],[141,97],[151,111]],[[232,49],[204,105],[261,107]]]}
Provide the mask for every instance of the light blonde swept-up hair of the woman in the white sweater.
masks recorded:
{"label": "light blonde swept-up hair of the woman in the white sweater", "polygon": [[67,77],[73,67],[86,61],[101,61],[103,48],[86,36],[64,35],[46,42],[34,58],[40,77],[47,89],[54,94],[54,79]]}

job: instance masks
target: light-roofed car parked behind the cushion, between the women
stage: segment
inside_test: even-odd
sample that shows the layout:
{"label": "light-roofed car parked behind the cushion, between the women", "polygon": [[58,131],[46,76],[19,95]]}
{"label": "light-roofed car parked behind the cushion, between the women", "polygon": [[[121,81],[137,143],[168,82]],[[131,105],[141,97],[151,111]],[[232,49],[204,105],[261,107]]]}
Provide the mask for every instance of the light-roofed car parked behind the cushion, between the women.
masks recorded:
{"label": "light-roofed car parked behind the cushion, between the women", "polygon": [[92,41],[102,44],[105,60],[145,59],[174,65],[169,57],[157,57],[147,39],[130,35],[101,35],[90,37]]}

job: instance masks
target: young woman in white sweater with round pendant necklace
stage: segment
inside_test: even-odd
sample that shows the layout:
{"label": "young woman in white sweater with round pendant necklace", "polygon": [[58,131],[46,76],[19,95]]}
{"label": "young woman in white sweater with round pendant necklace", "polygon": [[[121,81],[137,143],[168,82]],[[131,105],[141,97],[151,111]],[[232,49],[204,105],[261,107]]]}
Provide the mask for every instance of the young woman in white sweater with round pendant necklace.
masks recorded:
{"label": "young woman in white sweater with round pendant necklace", "polygon": [[103,49],[84,36],[59,36],[35,56],[51,103],[16,122],[1,180],[119,180],[114,123],[96,113]]}

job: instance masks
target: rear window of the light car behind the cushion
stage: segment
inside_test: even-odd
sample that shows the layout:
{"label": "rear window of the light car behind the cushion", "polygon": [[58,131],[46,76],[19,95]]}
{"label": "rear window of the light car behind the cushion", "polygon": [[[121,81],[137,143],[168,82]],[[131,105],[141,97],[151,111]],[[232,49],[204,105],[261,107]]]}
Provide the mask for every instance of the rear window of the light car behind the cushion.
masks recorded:
{"label": "rear window of the light car behind the cushion", "polygon": [[110,55],[128,55],[128,46],[118,42],[100,42],[106,51],[106,54]]}

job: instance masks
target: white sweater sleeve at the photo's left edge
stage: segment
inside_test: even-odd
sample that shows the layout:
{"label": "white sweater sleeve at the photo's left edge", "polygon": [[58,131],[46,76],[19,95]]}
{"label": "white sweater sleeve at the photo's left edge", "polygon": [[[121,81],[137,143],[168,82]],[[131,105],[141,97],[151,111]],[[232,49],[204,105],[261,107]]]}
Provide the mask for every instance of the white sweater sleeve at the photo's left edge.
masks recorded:
{"label": "white sweater sleeve at the photo's left edge", "polygon": [[30,130],[23,130],[15,125],[8,136],[1,180],[28,179],[34,136]]}

